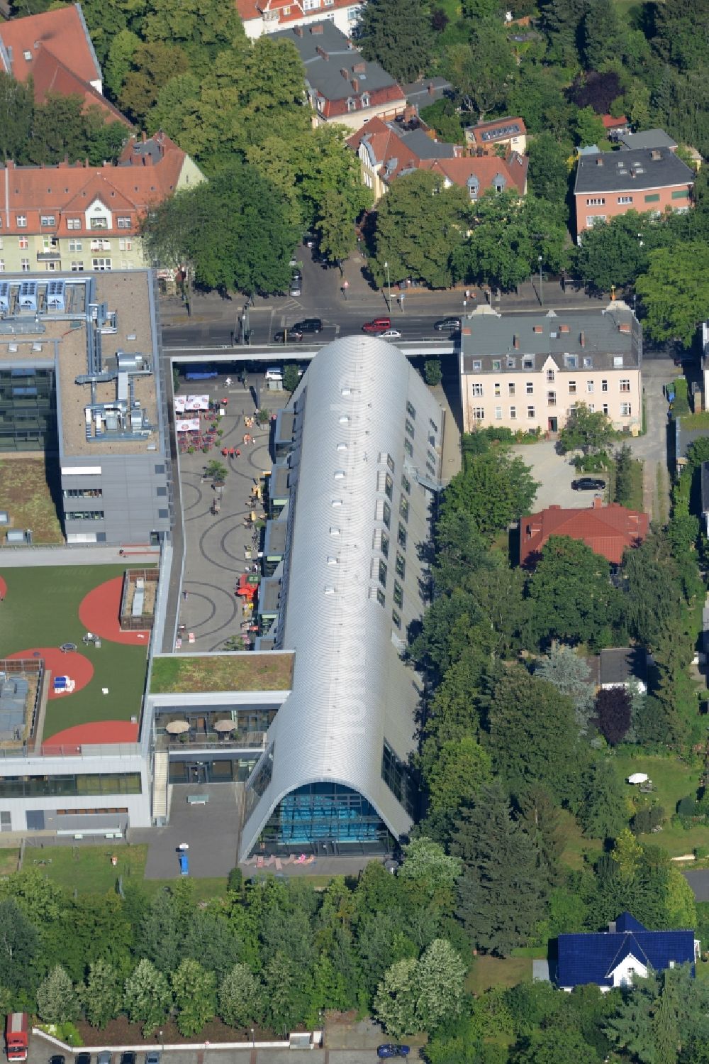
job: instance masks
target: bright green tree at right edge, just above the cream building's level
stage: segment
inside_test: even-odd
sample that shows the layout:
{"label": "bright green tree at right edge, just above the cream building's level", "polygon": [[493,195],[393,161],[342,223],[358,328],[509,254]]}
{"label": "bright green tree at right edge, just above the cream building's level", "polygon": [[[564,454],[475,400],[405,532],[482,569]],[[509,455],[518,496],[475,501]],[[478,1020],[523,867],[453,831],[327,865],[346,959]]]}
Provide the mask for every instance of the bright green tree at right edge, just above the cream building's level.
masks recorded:
{"label": "bright green tree at right edge, just above the cream building's level", "polygon": [[656,340],[678,339],[689,347],[709,316],[709,246],[691,240],[649,253],[636,283],[646,311],[645,328]]}

